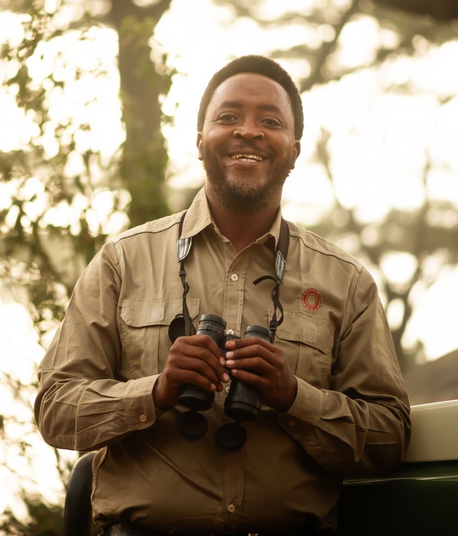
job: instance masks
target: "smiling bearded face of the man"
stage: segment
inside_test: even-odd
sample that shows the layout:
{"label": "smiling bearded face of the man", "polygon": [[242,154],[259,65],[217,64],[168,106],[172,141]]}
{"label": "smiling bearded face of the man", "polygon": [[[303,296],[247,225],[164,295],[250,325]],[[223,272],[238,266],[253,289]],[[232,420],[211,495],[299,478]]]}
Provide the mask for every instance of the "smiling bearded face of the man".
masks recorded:
{"label": "smiling bearded face of the man", "polygon": [[240,73],[220,84],[197,136],[207,193],[237,212],[280,203],[300,152],[285,89],[263,75]]}

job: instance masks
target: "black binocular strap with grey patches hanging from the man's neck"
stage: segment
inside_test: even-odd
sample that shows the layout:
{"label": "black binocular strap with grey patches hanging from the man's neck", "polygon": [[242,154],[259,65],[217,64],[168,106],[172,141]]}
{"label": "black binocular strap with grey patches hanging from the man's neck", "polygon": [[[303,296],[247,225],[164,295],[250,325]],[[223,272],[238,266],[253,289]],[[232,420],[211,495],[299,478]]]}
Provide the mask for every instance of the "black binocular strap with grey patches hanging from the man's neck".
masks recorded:
{"label": "black binocular strap with grey patches hanging from the man's neck", "polygon": [[[191,250],[192,237],[182,239],[181,233],[183,230],[183,223],[185,221],[186,212],[181,216],[180,225],[178,228],[178,243],[177,243],[177,257],[180,265],[180,279],[181,285],[183,286],[183,312],[182,315],[185,319],[185,334],[193,335],[195,327],[192,323],[191,316],[189,314],[188,305],[186,303],[186,295],[189,292],[189,285],[186,281],[186,270],[185,270],[185,258],[188,256],[189,251]],[[286,258],[288,256],[289,248],[289,227],[286,221],[281,218],[280,221],[280,233],[278,236],[277,249],[276,249],[276,258],[275,258],[275,276],[262,276],[253,281],[254,285],[257,285],[261,281],[266,279],[271,279],[275,282],[275,285],[271,292],[271,298],[273,302],[273,315],[269,323],[269,329],[272,333],[271,341],[273,343],[275,339],[275,333],[277,327],[283,322],[283,306],[280,303],[280,285],[285,279],[285,268],[286,268]],[[277,309],[280,311],[280,318],[277,320]]]}

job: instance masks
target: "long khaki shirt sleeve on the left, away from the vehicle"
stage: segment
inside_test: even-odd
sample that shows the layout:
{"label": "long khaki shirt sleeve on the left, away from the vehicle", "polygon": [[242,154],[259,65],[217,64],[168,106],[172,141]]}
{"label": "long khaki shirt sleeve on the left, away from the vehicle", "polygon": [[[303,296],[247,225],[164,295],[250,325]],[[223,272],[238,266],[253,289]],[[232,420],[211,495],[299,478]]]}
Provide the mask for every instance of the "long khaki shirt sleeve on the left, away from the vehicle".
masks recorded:
{"label": "long khaki shirt sleeve on the left, away from the vehicle", "polygon": [[117,379],[123,352],[117,324],[120,286],[110,242],[80,277],[38,370],[35,420],[52,446],[97,449],[156,419],[152,388],[157,376]]}

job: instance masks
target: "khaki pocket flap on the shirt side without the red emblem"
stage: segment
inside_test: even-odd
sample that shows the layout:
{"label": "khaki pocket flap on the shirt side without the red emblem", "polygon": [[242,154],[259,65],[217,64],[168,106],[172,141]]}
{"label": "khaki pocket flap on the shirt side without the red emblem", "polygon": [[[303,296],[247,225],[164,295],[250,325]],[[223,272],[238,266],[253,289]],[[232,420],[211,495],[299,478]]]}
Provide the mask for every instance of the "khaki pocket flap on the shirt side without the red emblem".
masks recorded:
{"label": "khaki pocket flap on the shirt side without the red emblem", "polygon": [[[200,300],[186,300],[191,318],[199,314]],[[132,327],[169,325],[182,312],[182,300],[157,298],[152,300],[123,301],[121,318]]]}

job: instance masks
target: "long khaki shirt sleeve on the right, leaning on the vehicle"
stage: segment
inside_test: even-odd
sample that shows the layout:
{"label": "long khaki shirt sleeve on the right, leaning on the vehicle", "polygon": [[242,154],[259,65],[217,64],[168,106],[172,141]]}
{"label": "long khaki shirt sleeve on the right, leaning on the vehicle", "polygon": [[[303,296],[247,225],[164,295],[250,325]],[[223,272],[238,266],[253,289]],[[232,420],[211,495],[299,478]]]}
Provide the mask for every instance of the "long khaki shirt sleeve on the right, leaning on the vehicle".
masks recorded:
{"label": "long khaki shirt sleeve on the right, leaning on the vehicle", "polygon": [[297,395],[278,422],[326,470],[381,472],[402,460],[410,408],[377,287],[362,269],[348,296],[335,348],[331,389],[297,378]]}

